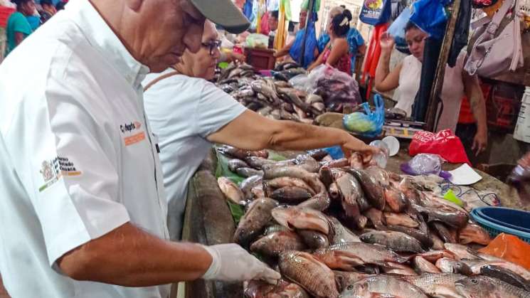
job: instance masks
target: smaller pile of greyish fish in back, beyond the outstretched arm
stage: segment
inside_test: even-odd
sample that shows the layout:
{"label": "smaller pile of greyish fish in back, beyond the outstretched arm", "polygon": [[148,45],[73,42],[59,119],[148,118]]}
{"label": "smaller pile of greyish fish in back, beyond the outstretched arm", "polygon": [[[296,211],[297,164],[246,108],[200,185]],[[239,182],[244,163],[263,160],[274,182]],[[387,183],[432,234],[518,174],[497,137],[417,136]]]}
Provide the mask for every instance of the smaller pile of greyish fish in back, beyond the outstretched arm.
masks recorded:
{"label": "smaller pile of greyish fish in back, beyond the outstretched arm", "polygon": [[[287,82],[292,75],[305,73],[303,68],[297,68],[295,63],[283,63],[277,68],[283,70],[275,71],[274,78],[263,78],[250,65],[230,64],[221,72],[218,87],[265,117],[312,124],[315,117],[326,112],[324,100]],[[275,80],[279,77],[286,80]]]}

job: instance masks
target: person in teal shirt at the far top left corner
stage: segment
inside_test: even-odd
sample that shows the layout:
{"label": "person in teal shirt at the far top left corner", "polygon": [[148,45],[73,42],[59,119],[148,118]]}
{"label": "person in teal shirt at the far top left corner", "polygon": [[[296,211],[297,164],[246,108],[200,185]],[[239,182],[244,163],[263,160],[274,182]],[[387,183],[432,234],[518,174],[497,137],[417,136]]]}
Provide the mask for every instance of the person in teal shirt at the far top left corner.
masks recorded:
{"label": "person in teal shirt at the far top left corner", "polygon": [[26,17],[33,16],[36,9],[33,0],[14,0],[13,2],[16,4],[16,11],[7,20],[6,56],[33,32]]}

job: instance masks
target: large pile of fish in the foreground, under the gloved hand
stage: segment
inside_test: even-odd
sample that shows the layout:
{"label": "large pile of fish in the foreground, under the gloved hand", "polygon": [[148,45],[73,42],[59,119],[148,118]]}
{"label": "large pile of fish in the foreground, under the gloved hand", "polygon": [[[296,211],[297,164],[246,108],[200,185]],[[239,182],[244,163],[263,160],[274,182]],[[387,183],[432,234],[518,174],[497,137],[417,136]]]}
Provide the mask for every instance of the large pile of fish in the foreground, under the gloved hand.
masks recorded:
{"label": "large pile of fish in the foreground, under the gloved hand", "polygon": [[419,179],[359,154],[272,161],[267,151],[218,151],[248,177],[218,179],[245,208],[233,241],[282,274],[245,283],[245,297],[530,297],[530,272],[473,250],[487,231]]}

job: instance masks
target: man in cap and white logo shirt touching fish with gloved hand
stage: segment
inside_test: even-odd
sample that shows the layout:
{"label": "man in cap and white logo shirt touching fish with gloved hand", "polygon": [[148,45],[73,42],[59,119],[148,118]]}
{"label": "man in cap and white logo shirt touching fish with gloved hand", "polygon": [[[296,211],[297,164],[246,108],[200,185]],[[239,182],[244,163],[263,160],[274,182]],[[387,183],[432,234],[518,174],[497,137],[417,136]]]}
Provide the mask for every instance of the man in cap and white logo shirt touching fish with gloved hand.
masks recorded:
{"label": "man in cap and white logo shirt touching fish with gloved hand", "polygon": [[230,0],[216,4],[72,0],[0,65],[0,272],[12,297],[166,298],[172,282],[280,277],[238,245],[167,240],[140,83],[200,48],[205,17],[245,30]]}

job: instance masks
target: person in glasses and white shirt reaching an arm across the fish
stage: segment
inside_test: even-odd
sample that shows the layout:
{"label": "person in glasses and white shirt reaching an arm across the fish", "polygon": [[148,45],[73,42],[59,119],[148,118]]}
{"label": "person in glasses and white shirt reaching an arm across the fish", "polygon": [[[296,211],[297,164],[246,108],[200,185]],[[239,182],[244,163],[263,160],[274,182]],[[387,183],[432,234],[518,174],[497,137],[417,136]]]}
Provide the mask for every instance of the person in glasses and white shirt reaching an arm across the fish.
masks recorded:
{"label": "person in glasses and white shirt reaching an arm across the fish", "polygon": [[205,23],[202,48],[186,50],[180,63],[144,80],[144,105],[160,140],[160,160],[169,201],[169,231],[179,239],[186,187],[212,143],[242,149],[303,150],[341,145],[346,154],[373,148],[340,130],[276,121],[247,110],[208,80],[220,55],[218,33]]}

